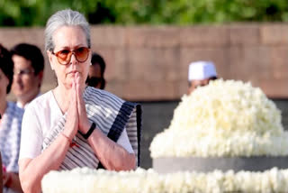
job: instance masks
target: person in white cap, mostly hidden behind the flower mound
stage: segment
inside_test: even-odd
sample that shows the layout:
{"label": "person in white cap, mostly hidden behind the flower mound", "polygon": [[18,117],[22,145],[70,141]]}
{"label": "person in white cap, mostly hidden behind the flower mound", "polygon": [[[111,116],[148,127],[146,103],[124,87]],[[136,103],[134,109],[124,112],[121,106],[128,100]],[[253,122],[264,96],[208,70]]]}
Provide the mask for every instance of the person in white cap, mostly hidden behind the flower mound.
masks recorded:
{"label": "person in white cap, mostly hidden behind the flower mound", "polygon": [[188,95],[197,87],[209,84],[210,80],[217,79],[217,73],[211,61],[193,61],[189,64]]}

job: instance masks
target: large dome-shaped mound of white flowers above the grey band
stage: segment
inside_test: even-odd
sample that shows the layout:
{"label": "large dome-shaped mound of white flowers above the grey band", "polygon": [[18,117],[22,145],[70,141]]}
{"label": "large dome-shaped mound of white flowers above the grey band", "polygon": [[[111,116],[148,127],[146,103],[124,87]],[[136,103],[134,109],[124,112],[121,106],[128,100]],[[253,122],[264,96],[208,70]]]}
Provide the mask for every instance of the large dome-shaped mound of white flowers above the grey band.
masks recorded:
{"label": "large dome-shaped mound of white flowers above the grey band", "polygon": [[280,110],[260,88],[218,79],[182,97],[150,152],[152,158],[284,156],[287,137]]}

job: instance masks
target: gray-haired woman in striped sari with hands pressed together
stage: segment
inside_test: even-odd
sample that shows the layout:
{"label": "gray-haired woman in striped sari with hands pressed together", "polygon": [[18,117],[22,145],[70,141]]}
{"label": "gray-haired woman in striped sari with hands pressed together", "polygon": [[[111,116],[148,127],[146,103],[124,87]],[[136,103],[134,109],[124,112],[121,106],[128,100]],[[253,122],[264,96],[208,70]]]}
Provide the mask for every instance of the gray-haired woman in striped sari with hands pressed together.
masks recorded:
{"label": "gray-haired woman in striped sari with hands pressed together", "polygon": [[139,106],[85,87],[90,47],[82,14],[64,10],[49,18],[45,49],[58,86],[25,109],[19,159],[24,192],[40,192],[40,180],[50,170],[137,166]]}

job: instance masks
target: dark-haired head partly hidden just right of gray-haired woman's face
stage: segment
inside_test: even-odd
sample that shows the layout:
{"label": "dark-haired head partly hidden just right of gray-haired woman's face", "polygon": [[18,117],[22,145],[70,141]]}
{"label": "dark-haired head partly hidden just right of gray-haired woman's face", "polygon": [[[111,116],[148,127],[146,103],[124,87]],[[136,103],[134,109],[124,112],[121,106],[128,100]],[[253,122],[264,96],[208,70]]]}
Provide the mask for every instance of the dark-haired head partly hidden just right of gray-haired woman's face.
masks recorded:
{"label": "dark-haired head partly hidden just right of gray-haired woman's face", "polygon": [[86,85],[104,89],[106,85],[106,81],[104,79],[105,68],[106,64],[103,58],[99,54],[93,53],[88,77],[86,79]]}

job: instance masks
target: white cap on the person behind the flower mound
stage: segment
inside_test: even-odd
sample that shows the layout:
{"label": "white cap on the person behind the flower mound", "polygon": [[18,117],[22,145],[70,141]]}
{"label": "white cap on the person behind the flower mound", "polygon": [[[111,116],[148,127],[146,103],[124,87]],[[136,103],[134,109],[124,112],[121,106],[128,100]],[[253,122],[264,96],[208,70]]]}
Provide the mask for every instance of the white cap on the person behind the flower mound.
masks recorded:
{"label": "white cap on the person behind the flower mound", "polygon": [[189,64],[188,80],[202,80],[217,77],[216,69],[211,61],[194,61]]}

